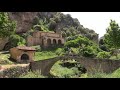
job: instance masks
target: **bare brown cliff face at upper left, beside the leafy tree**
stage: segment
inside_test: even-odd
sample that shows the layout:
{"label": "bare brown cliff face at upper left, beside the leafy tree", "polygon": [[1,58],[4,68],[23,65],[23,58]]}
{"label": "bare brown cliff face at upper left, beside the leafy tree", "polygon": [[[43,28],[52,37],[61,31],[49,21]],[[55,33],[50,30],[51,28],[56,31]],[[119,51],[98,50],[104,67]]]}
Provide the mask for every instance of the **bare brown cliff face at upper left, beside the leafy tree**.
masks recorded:
{"label": "bare brown cliff face at upper left, beside the leafy tree", "polygon": [[32,22],[38,12],[8,12],[11,20],[17,22],[17,33],[24,33],[32,27]]}

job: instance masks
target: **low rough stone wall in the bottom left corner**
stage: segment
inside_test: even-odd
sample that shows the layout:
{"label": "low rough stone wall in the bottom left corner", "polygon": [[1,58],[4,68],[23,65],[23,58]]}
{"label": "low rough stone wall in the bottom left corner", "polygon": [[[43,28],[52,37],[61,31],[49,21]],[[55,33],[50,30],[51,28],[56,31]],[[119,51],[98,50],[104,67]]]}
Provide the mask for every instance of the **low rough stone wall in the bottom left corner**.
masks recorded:
{"label": "low rough stone wall in the bottom left corner", "polygon": [[20,75],[27,73],[29,71],[28,66],[16,66],[11,67],[9,69],[1,70],[0,71],[0,78],[18,78]]}

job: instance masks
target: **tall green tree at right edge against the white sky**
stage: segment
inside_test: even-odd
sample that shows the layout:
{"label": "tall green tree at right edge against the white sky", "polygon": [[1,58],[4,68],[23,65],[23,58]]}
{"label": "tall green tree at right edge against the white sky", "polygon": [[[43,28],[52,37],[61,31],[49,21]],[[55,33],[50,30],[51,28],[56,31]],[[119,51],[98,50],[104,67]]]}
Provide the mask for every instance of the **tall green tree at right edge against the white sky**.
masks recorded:
{"label": "tall green tree at right edge against the white sky", "polygon": [[120,27],[116,21],[111,20],[104,40],[108,47],[115,48],[115,50],[120,48]]}

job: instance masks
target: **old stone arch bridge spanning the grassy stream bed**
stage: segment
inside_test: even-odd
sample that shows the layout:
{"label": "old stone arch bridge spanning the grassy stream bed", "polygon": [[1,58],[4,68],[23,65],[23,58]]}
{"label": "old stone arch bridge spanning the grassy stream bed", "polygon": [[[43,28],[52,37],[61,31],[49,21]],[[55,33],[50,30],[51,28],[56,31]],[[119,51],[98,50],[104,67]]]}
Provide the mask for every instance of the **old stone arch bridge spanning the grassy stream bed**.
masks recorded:
{"label": "old stone arch bridge spanning the grassy stream bed", "polygon": [[93,58],[85,58],[79,56],[61,56],[55,57],[46,60],[40,60],[36,62],[32,62],[30,64],[32,71],[40,70],[41,74],[49,75],[50,69],[52,66],[59,60],[70,60],[75,59],[80,64],[82,64],[87,72],[95,73],[95,72],[105,72],[111,73],[114,70],[120,67],[119,60],[108,60],[108,59],[93,59]]}

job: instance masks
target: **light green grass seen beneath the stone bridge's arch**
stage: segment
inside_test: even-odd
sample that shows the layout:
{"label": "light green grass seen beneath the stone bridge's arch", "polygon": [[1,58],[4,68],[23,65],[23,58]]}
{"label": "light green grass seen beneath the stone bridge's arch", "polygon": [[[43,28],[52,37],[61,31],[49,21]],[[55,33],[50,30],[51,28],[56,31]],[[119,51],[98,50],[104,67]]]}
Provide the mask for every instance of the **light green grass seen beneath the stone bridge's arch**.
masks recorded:
{"label": "light green grass seen beneath the stone bridge's arch", "polygon": [[57,78],[78,78],[81,72],[76,67],[67,68],[60,65],[60,61],[56,62],[51,68],[50,73]]}

